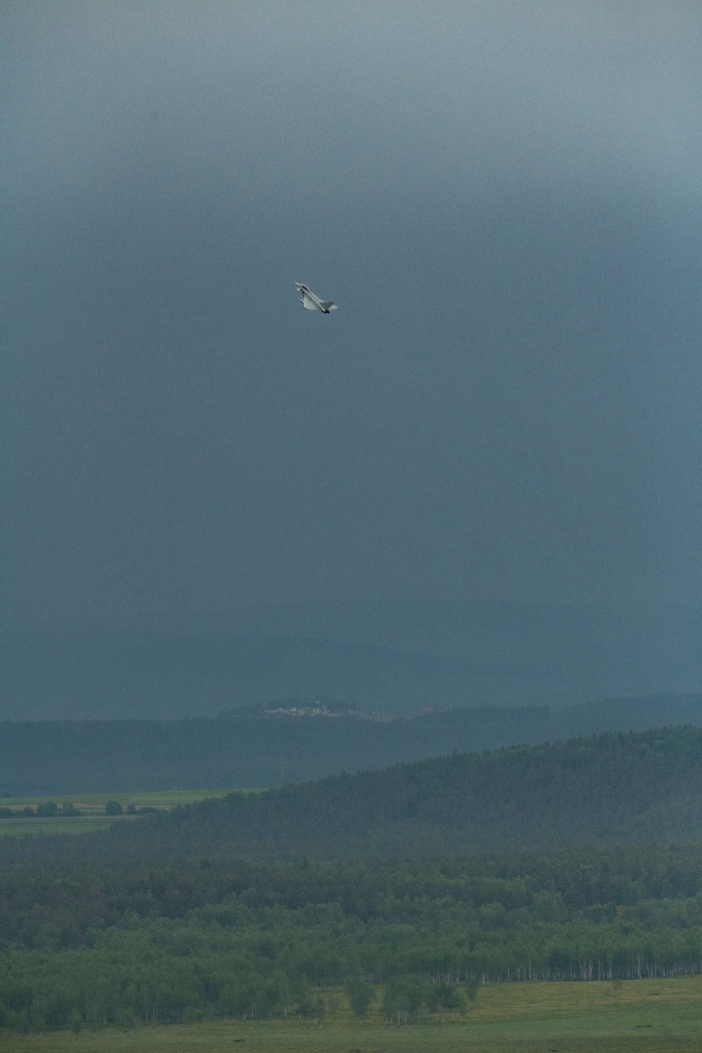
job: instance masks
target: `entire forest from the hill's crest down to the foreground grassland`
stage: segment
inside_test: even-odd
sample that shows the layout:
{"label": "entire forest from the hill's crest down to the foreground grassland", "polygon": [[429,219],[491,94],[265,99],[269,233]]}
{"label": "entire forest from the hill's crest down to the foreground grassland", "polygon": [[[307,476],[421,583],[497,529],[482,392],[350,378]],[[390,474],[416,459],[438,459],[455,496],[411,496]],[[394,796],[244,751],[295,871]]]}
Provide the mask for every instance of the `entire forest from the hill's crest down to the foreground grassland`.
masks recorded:
{"label": "entire forest from the hill's crest down to the foreground grassland", "polygon": [[[0,1027],[409,1022],[702,973],[702,731],[459,754],[0,843]],[[540,846],[540,847],[538,847]]]}

